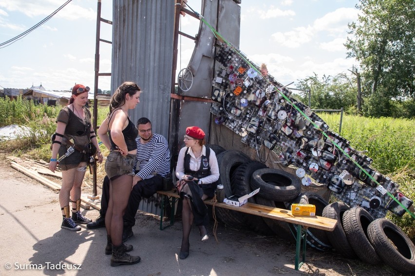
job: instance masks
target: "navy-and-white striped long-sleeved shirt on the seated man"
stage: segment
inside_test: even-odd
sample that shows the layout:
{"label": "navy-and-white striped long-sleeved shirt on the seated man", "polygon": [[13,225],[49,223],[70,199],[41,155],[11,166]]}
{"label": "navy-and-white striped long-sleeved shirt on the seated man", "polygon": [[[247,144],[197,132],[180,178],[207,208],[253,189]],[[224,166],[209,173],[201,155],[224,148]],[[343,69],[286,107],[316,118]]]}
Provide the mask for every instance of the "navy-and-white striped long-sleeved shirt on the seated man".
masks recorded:
{"label": "navy-and-white striped long-sleeved shirt on the seated man", "polygon": [[135,139],[137,155],[134,161],[135,175],[142,179],[151,178],[155,174],[165,177],[170,173],[170,152],[166,138],[153,133],[151,140],[145,144],[140,142],[141,137]]}

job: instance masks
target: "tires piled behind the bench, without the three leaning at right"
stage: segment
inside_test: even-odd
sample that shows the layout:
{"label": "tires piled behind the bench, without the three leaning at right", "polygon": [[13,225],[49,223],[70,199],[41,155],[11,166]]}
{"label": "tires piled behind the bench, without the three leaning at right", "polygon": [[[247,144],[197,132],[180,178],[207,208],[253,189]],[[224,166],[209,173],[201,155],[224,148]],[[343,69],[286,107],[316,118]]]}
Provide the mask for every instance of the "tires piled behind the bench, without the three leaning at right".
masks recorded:
{"label": "tires piled behind the bench, without the three leaning at right", "polygon": [[[220,172],[218,184],[224,185],[225,197],[242,196],[260,188],[258,194],[250,197],[248,202],[283,209],[290,208],[292,203],[310,203],[316,205],[316,214],[319,216],[328,205],[318,194],[301,193],[301,183],[291,173],[267,168],[240,151],[225,151],[216,145],[210,147],[217,154]],[[248,227],[263,235],[278,235],[295,241],[297,228],[292,224],[225,208],[217,208],[215,212],[218,219],[230,227]],[[331,249],[325,231],[319,229],[309,228],[307,243],[319,250]]]}

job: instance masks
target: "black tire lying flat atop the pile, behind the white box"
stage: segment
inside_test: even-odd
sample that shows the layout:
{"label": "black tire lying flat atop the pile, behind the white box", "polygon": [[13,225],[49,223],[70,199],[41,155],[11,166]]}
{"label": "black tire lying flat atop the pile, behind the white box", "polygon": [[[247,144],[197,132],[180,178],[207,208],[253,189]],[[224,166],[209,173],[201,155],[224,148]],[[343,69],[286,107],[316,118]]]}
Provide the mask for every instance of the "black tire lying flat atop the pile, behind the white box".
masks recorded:
{"label": "black tire lying flat atop the pile, behind the white box", "polygon": [[277,169],[260,169],[252,173],[252,190],[259,190],[259,194],[272,201],[284,202],[295,199],[301,191],[297,176]]}

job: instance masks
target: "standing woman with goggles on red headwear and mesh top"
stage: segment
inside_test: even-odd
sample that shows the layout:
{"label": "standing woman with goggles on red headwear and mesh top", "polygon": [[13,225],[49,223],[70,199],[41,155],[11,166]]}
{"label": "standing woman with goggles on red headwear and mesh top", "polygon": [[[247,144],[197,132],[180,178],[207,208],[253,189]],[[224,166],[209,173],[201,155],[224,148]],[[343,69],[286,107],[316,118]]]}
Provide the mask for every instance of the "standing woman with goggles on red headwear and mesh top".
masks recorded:
{"label": "standing woman with goggles on red headwear and mesh top", "polygon": [[[52,157],[49,169],[55,172],[57,165],[62,171],[62,187],[59,191],[59,204],[62,210],[62,229],[79,231],[75,223],[87,224],[90,219],[80,212],[81,185],[91,156],[98,149],[98,141],[91,123],[91,112],[85,107],[88,102],[88,86],[75,85],[69,104],[57,116],[56,133],[52,142]],[[73,147],[71,147],[71,145]],[[75,150],[70,153],[69,149]],[[60,158],[57,162],[57,155]],[[97,152],[98,162],[102,162],[101,152]],[[69,214],[69,201],[72,202],[72,216]]]}

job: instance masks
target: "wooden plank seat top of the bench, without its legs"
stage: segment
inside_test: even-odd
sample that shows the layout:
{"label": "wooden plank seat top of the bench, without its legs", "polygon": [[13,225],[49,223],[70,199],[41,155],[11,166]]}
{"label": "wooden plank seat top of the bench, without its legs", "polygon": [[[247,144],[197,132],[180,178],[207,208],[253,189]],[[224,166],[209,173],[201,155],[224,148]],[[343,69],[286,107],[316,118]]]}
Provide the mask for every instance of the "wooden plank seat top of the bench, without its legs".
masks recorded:
{"label": "wooden plank seat top of the bench, without its legs", "polygon": [[[157,191],[157,193],[172,197],[179,197],[177,192],[174,192],[173,190]],[[333,231],[337,224],[337,220],[320,216],[295,216],[291,213],[291,210],[273,208],[249,202],[245,203],[243,206],[236,207],[226,203],[213,202],[213,200],[209,199],[205,200],[205,204],[326,231]]]}

